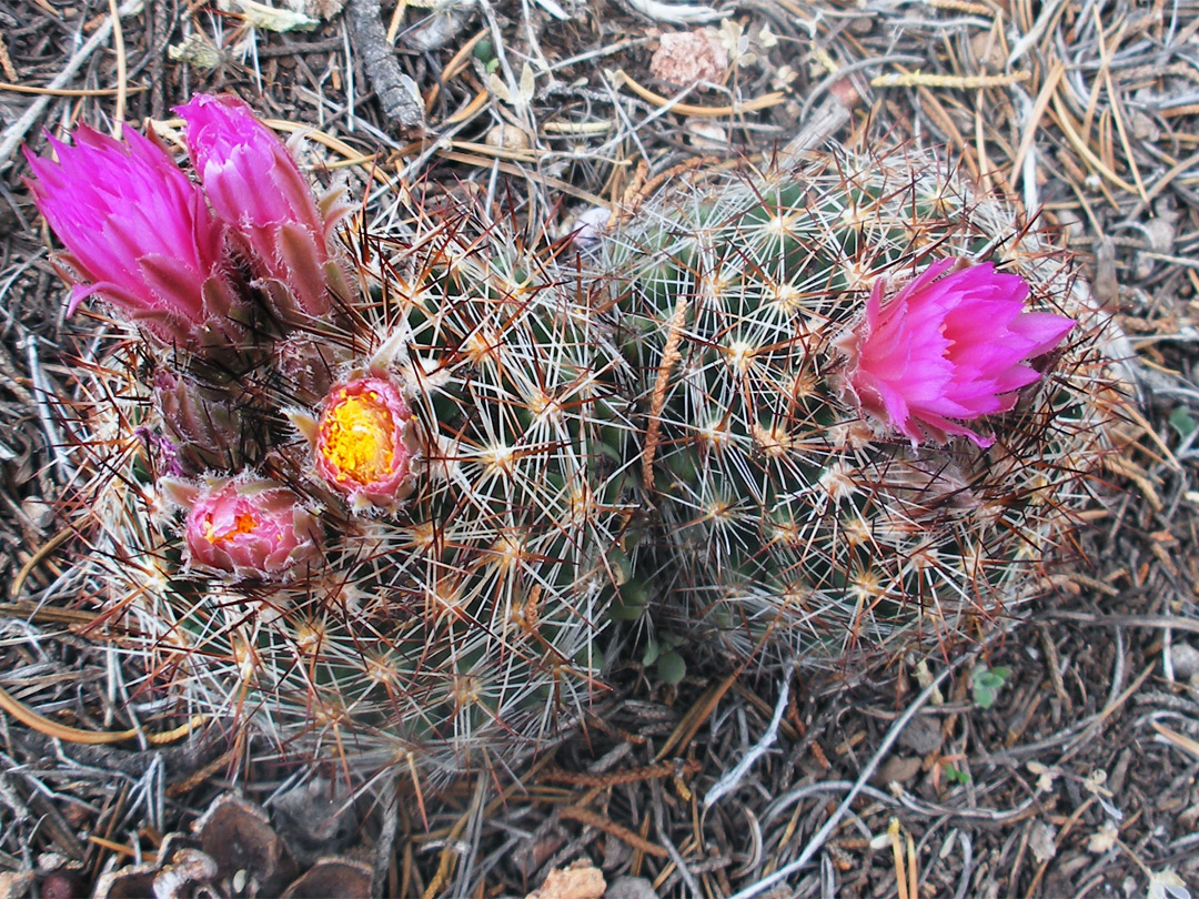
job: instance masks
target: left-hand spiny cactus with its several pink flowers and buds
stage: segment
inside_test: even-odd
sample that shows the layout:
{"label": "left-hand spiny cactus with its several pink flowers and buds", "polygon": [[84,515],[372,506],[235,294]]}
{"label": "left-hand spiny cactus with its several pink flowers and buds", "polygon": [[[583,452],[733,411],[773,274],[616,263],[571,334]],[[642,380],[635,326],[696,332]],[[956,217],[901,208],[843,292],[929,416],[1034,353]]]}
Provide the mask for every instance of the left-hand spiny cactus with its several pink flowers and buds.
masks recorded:
{"label": "left-hand spiny cactus with its several pink flowers and buds", "polygon": [[601,692],[625,577],[625,366],[589,284],[470,209],[338,240],[336,204],[299,195],[243,104],[180,111],[206,194],[171,194],[191,218],[163,233],[200,235],[223,304],[193,279],[170,295],[187,314],[158,314],[163,241],[106,193],[140,183],[143,157],[168,171],[159,147],[85,132],[65,165],[31,161],[71,251],[59,188],[110,163],[88,212],[132,261],[103,283],[74,270],[150,321],[79,369],[88,551],[60,596],[102,610],[94,635],[143,718],[199,713],[287,759],[434,779],[511,764]]}

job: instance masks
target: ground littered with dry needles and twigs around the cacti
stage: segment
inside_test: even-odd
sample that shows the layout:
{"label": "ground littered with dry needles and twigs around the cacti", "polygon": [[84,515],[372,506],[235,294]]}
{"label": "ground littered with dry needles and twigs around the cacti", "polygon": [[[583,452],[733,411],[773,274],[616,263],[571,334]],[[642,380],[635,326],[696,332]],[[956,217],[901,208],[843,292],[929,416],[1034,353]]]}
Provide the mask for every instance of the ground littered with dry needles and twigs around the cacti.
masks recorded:
{"label": "ground littered with dry needles and twigs around the cacti", "polygon": [[[86,723],[109,660],[31,601],[55,577],[62,485],[42,397],[65,381],[70,324],[19,146],[76,122],[169,120],[201,90],[311,126],[363,182],[379,167],[501,192],[564,227],[619,199],[639,165],[753,158],[796,135],[945,146],[1060,228],[1135,351],[1129,444],[1096,485],[1083,555],[978,654],[795,677],[785,693],[776,678],[697,669],[670,687],[619,668],[603,714],[506,782],[466,778],[420,811],[411,791],[387,803],[364,790],[332,835],[305,821],[327,810],[301,803],[261,839],[288,840],[301,867],[355,859],[375,894],[404,897],[524,895],[572,863],[621,897],[1199,889],[1199,6],[341,7],[0,0],[0,687],[46,716],[0,716],[0,899],[152,870],[163,835],[234,782],[255,802],[279,794],[276,772],[233,770],[219,749],[79,746],[37,725]],[[705,28],[653,62],[664,34]],[[717,86],[670,84],[709,50],[689,78]],[[981,702],[984,669],[1007,674]],[[767,731],[733,801],[703,813]],[[294,894],[348,892],[349,870]],[[586,880],[543,895],[597,894]],[[132,882],[109,894],[149,894]]]}

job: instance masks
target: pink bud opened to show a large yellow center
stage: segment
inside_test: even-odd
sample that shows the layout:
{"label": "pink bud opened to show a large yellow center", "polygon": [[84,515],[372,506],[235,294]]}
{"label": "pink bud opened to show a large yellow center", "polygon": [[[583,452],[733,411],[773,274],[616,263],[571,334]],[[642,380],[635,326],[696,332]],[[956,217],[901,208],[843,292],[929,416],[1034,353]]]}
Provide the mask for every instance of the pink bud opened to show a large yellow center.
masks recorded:
{"label": "pink bud opened to show a large yellow center", "polygon": [[317,424],[318,473],[355,508],[394,508],[412,491],[412,414],[382,378],[337,385]]}

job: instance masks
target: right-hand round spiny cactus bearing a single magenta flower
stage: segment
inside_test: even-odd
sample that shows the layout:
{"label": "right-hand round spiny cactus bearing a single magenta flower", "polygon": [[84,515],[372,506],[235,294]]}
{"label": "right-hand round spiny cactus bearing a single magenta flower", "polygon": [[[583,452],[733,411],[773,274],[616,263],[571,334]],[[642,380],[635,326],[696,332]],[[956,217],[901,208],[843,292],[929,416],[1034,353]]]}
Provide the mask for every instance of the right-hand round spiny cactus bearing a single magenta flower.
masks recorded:
{"label": "right-hand round spiny cactus bearing a single magenta flower", "polygon": [[[640,373],[650,554],[675,573],[649,623],[741,662],[945,650],[1071,548],[1120,404],[1104,325],[1065,253],[934,157],[703,174],[595,252]],[[1029,290],[1040,312],[1013,318]],[[962,312],[917,321],[946,291]],[[1004,318],[971,337],[963,321],[988,309]],[[1053,349],[1065,316],[1079,326]],[[921,327],[950,343],[935,370],[896,331]],[[980,368],[988,339],[1011,358]],[[870,364],[908,369],[879,387]]]}

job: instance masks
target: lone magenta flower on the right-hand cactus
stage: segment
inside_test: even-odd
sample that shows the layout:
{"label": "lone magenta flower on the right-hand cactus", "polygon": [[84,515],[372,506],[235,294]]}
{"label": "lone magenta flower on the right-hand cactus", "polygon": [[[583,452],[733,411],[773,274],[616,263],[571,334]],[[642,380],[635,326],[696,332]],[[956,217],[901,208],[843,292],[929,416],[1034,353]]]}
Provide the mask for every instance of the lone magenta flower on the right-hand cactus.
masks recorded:
{"label": "lone magenta flower on the right-hand cactus", "polygon": [[1076,324],[1025,312],[1029,285],[990,263],[945,274],[958,263],[934,263],[885,306],[880,278],[866,316],[838,342],[849,357],[845,384],[861,409],[914,447],[950,434],[990,446],[994,439],[952,420],[1011,409],[1017,391],[1041,378],[1025,362],[1049,352]]}

